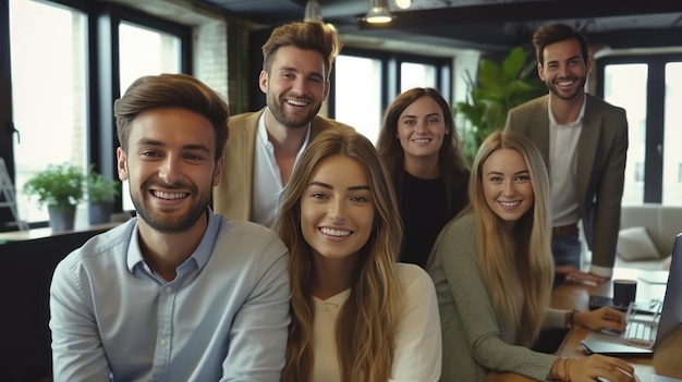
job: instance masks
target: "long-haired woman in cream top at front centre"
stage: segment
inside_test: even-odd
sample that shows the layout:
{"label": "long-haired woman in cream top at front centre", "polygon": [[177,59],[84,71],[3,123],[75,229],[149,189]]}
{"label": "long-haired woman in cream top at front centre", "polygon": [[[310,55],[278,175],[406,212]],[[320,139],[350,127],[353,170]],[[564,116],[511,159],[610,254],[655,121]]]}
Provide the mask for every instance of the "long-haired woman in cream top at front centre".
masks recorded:
{"label": "long-haired woman in cream top at front centre", "polygon": [[395,196],[367,138],[329,131],[306,148],[276,231],[290,248],[292,296],[282,381],[438,380],[434,285],[397,263]]}

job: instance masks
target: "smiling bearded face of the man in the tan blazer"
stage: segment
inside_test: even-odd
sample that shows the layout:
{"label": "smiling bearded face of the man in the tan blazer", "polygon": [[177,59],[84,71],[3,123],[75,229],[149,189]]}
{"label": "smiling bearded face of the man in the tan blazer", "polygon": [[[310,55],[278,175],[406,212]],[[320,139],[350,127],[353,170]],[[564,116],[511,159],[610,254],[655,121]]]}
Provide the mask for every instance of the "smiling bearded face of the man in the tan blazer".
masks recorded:
{"label": "smiling bearded face of the man in the tan blazer", "polygon": [[329,94],[322,54],[284,46],[266,70],[258,83],[272,116],[287,127],[307,127]]}

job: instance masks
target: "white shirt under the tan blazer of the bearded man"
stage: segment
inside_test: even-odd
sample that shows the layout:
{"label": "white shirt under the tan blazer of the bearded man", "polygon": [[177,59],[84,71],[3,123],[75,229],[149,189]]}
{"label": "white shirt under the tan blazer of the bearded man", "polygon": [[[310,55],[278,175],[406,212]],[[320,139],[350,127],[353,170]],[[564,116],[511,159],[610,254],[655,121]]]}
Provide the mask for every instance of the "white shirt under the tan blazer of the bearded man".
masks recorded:
{"label": "white shirt under the tan blazer of the bearded man", "polygon": [[[268,139],[268,131],[265,127],[265,113],[260,114],[258,120],[258,132],[256,134],[256,152],[254,158],[254,187],[253,199],[251,206],[249,220],[267,227],[275,226],[275,220],[279,213],[281,199],[284,194],[284,185],[282,184],[282,175],[275,159],[275,147]],[[303,140],[303,146],[296,153],[294,167],[299,163],[301,153],[308,146],[310,137],[310,127]],[[230,182],[230,180],[227,180]]]}

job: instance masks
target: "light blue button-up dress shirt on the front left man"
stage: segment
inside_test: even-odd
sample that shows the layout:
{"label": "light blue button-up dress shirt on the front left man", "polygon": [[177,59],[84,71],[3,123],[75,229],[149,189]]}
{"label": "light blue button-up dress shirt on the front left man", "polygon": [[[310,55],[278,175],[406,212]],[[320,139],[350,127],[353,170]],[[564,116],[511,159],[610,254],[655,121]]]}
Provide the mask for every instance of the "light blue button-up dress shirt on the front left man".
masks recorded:
{"label": "light blue button-up dress shirt on the front left man", "polygon": [[266,227],[208,215],[171,282],[144,262],[136,219],[60,262],[50,288],[56,382],[279,380],[289,251]]}

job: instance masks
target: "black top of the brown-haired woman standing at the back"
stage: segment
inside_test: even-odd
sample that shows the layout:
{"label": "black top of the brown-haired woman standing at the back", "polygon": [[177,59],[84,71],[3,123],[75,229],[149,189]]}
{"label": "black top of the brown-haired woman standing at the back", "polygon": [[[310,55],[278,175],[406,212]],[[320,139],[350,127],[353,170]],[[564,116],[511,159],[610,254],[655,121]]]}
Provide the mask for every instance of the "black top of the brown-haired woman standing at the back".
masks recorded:
{"label": "black top of the brown-haired woman standing at the back", "polygon": [[404,242],[400,261],[425,268],[440,230],[468,204],[468,173],[458,184],[453,208],[448,211],[446,187],[440,178],[425,180],[403,171],[400,213]]}

